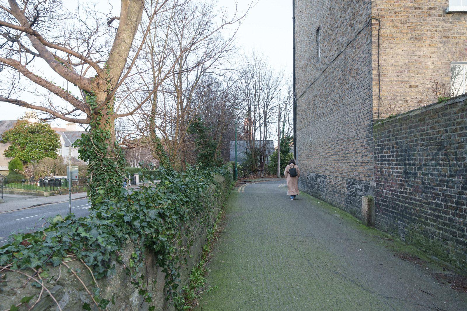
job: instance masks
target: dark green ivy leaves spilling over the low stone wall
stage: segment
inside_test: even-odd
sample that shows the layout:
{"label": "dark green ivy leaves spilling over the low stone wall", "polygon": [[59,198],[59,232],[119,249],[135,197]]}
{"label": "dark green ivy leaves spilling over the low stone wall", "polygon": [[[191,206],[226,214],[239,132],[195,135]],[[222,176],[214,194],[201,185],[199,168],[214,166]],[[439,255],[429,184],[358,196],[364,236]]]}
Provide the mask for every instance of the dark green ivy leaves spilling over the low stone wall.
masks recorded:
{"label": "dark green ivy leaves spilling over the low stone wall", "polygon": [[[231,180],[226,167],[201,170],[195,166],[183,173],[161,168],[159,184],[133,193],[122,188],[121,196],[125,199],[103,200],[88,217],[68,214],[63,218],[58,215],[48,220],[48,228],[12,235],[13,242],[0,248],[0,269],[29,268],[40,272],[46,269],[46,264],[57,266],[64,263],[65,258],[75,257],[89,266],[93,276],[99,279],[115,273],[113,260],[121,262],[119,251],[126,242],[133,241],[136,251],[130,262],[123,264],[140,294],[151,302],[150,295],[138,281],[144,259],[142,254],[148,249],[154,251],[156,264],[166,274],[168,299],[179,307],[183,298],[177,291],[180,276],[177,271],[184,264],[183,258],[189,249],[181,247],[179,242],[183,237],[191,241],[190,228],[196,227],[196,219],[210,217],[212,206],[207,204],[210,202],[207,195],[210,185],[216,184],[215,173]],[[217,187],[217,191],[223,189]],[[105,309],[109,304],[110,298],[106,298],[95,301],[99,308]]]}

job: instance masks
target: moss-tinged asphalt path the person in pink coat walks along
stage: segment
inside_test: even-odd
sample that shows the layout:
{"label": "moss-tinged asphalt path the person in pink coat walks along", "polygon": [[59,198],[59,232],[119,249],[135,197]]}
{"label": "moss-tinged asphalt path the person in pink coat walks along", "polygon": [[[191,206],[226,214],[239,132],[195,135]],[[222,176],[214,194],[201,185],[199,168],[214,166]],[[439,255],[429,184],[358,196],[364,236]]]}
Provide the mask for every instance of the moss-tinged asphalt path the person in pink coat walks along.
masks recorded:
{"label": "moss-tinged asphalt path the person in pink coat walks along", "polygon": [[234,189],[196,310],[467,310],[454,270],[285,180]]}

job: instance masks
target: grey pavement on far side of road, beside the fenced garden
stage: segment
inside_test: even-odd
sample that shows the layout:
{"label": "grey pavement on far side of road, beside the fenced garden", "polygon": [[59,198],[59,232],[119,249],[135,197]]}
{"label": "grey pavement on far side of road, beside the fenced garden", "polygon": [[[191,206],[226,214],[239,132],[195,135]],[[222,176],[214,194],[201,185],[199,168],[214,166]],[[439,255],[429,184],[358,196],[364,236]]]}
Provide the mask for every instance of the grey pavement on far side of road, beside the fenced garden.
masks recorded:
{"label": "grey pavement on far side of road, beside the fenced garden", "polygon": [[[0,213],[10,212],[28,207],[68,201],[68,194],[51,195],[48,197],[24,194],[3,194],[4,202],[0,203]],[[87,198],[85,192],[71,194],[71,200]]]}

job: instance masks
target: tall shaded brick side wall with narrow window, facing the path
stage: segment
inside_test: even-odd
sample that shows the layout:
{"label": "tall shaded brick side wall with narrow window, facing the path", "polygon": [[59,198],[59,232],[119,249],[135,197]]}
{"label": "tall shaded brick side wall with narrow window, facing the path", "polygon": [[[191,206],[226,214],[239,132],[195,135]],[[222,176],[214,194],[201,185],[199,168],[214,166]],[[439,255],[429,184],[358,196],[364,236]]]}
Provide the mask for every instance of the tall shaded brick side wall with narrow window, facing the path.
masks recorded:
{"label": "tall shaded brick side wall with narrow window, facing the path", "polygon": [[358,216],[373,194],[371,0],[296,0],[295,15],[299,187]]}

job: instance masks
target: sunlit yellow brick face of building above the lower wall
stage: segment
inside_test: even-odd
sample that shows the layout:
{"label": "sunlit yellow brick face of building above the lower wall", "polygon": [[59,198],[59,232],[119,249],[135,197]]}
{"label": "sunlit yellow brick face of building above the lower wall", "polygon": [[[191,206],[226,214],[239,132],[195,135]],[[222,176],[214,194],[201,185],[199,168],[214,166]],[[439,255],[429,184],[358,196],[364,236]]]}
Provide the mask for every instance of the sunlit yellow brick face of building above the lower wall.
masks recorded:
{"label": "sunlit yellow brick face of building above the lower wall", "polygon": [[446,14],[448,6],[449,0],[372,0],[372,15],[381,21],[379,74],[378,22],[373,21],[375,119],[438,101],[433,82],[449,88],[451,62],[467,61],[467,14]]}

